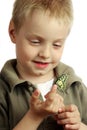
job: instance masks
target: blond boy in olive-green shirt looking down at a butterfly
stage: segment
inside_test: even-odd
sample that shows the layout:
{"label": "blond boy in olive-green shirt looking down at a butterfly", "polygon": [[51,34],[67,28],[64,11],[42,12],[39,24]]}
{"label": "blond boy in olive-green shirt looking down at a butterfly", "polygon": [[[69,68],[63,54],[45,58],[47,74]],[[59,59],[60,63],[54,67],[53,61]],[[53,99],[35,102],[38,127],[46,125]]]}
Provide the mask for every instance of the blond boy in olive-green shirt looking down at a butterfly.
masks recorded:
{"label": "blond boy in olive-green shirt looking down at a butterfly", "polygon": [[60,62],[71,0],[16,0],[9,35],[17,59],[0,74],[1,130],[87,130],[87,88]]}

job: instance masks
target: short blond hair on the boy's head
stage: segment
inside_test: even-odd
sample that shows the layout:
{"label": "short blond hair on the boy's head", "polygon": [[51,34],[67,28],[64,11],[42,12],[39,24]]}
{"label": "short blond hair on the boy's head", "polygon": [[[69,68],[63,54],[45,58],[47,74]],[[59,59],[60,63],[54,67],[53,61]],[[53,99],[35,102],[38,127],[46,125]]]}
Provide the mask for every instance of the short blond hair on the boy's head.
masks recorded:
{"label": "short blond hair on the boy's head", "polygon": [[16,0],[12,13],[12,20],[16,30],[20,29],[26,16],[29,16],[35,9],[49,12],[50,16],[68,24],[73,21],[71,0]]}

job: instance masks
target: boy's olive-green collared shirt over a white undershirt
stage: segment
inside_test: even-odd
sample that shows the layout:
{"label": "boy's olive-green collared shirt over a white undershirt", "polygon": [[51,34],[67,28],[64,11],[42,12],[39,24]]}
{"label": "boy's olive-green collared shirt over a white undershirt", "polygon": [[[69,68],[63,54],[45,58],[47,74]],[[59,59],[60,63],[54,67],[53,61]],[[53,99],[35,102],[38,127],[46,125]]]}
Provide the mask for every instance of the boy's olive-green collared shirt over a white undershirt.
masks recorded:
{"label": "boy's olive-green collared shirt over a white undershirt", "polygon": [[[16,64],[16,59],[7,61],[0,73],[0,130],[12,130],[17,125],[28,111],[30,96],[36,89],[34,84],[18,77]],[[77,105],[82,122],[87,124],[87,88],[73,69],[61,62],[55,68],[55,74],[54,83],[58,83],[58,77],[67,74],[65,87],[58,85],[58,93],[65,104]],[[49,116],[38,126],[38,130],[63,130],[63,127]]]}

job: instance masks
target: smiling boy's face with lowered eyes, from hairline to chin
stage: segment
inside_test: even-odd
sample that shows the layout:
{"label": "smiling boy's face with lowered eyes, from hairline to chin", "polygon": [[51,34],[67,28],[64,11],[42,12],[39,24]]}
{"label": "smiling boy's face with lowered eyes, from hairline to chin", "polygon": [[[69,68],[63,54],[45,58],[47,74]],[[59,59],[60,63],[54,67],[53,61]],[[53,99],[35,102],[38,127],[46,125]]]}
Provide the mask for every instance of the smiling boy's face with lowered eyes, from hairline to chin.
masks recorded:
{"label": "smiling boy's face with lowered eyes, from hairline to chin", "polygon": [[58,65],[69,27],[41,11],[27,17],[15,36],[17,68],[25,75],[50,75]]}

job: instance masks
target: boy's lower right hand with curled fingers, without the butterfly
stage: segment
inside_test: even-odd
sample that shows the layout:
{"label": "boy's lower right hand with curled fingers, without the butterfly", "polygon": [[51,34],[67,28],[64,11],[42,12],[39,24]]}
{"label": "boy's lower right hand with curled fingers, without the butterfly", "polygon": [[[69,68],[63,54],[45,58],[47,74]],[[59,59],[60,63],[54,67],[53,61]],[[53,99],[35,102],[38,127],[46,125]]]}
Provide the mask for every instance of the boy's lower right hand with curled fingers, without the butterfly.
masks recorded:
{"label": "boy's lower right hand with curled fingers, without the butterfly", "polygon": [[64,125],[64,130],[79,130],[81,119],[78,108],[75,105],[60,108],[57,122],[58,124]]}

